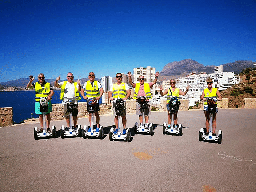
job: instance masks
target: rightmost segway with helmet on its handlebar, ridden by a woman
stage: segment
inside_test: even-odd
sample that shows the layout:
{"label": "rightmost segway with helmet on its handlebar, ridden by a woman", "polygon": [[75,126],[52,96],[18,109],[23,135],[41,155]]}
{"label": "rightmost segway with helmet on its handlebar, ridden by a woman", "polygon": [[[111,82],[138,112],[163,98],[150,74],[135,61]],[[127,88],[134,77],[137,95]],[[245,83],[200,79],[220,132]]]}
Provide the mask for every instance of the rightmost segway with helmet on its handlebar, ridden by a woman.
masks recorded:
{"label": "rightmost segway with helmet on its handlebar, ridden by a woman", "polygon": [[209,134],[205,135],[206,128],[200,128],[199,130],[199,141],[202,140],[210,140],[210,141],[216,141],[218,144],[221,144],[222,142],[222,131],[218,131],[218,135],[213,136],[212,135],[212,120],[213,120],[213,114],[216,112],[217,105],[215,102],[217,101],[216,98],[209,97],[207,99],[207,106],[208,106],[208,113],[210,114],[210,122],[209,122]]}

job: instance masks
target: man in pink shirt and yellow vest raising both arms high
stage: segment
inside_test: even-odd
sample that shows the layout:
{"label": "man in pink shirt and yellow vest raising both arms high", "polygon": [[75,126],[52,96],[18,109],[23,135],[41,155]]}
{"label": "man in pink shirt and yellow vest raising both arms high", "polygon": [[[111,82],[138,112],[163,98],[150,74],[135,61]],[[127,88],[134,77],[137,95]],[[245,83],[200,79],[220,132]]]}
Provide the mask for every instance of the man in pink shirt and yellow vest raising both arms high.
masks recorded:
{"label": "man in pink shirt and yellow vest raising both arms high", "polygon": [[[148,128],[148,120],[150,115],[150,104],[149,104],[149,99],[151,99],[151,91],[150,88],[153,87],[154,84],[156,84],[157,78],[159,76],[159,72],[157,71],[155,74],[155,79],[152,83],[144,83],[144,76],[139,76],[139,82],[140,83],[133,83],[132,82],[132,74],[131,72],[128,72],[129,76],[129,82],[132,85],[133,88],[135,88],[134,91],[134,99],[139,98],[140,96],[145,96],[148,101],[148,109],[145,110],[145,128]],[[140,127],[142,126],[142,109],[140,107],[140,104],[136,102],[136,114],[139,115],[139,120],[140,120]]]}

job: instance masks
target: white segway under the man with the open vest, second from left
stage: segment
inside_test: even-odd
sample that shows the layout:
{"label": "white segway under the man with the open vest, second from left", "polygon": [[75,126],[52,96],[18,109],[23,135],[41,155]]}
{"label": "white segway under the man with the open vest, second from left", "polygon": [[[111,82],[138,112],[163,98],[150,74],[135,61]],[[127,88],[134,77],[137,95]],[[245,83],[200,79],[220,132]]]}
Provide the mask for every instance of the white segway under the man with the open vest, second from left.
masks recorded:
{"label": "white segway under the man with the open vest, second from left", "polygon": [[[63,97],[67,98],[67,97]],[[77,97],[68,97],[68,102],[71,102],[73,99],[76,99]],[[73,117],[72,117],[72,111],[69,113],[69,125],[70,127],[65,127],[64,125],[61,126],[60,129],[60,137],[64,139],[67,136],[82,136],[82,127],[81,125],[77,125],[77,128],[72,125],[73,124]]]}

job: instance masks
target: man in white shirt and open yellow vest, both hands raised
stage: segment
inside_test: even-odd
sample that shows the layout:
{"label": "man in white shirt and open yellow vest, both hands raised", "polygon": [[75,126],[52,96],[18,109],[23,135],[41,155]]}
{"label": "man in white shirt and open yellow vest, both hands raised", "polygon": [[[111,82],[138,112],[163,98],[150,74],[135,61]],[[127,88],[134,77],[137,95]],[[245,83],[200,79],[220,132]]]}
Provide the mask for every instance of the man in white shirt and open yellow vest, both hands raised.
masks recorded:
{"label": "man in white shirt and open yellow vest, both hands raised", "polygon": [[74,128],[76,128],[77,125],[77,114],[78,114],[78,102],[77,100],[80,100],[81,97],[79,95],[79,92],[81,91],[81,84],[80,84],[80,80],[78,79],[77,82],[74,82],[74,76],[73,73],[69,72],[67,74],[67,80],[68,81],[62,81],[60,83],[58,83],[58,81],[60,80],[60,76],[56,78],[55,82],[54,82],[54,86],[57,88],[61,88],[61,92],[60,92],[60,99],[62,100],[62,104],[64,104],[64,116],[66,118],[66,122],[67,122],[67,127],[70,127],[69,124],[69,113],[68,109],[67,109],[67,102],[68,99],[70,97],[78,97],[75,99],[75,103],[74,103],[74,108],[73,108],[73,112],[72,112],[72,117],[73,117],[73,122],[74,122]]}

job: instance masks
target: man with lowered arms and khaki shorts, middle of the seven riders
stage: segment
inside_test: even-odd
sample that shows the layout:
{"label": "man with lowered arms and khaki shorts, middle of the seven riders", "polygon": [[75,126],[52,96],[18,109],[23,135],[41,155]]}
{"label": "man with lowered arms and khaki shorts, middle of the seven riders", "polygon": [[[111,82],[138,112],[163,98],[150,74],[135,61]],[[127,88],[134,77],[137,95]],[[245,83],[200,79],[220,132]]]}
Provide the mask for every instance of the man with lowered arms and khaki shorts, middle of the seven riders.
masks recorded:
{"label": "man with lowered arms and khaki shorts, middle of the seven riders", "polygon": [[[108,97],[110,100],[114,99],[122,99],[122,100],[127,100],[129,96],[131,95],[131,91],[128,87],[128,84],[122,82],[122,74],[121,73],[116,73],[116,83],[112,84],[110,87],[110,90],[108,92]],[[112,96],[113,94],[113,96]],[[116,103],[113,102],[113,113],[115,116],[115,125],[116,128],[118,128],[118,116],[116,115]],[[126,133],[126,103],[124,103],[124,108],[122,110],[122,123],[123,123],[123,134]],[[117,133],[117,129],[115,130],[114,133]]]}

